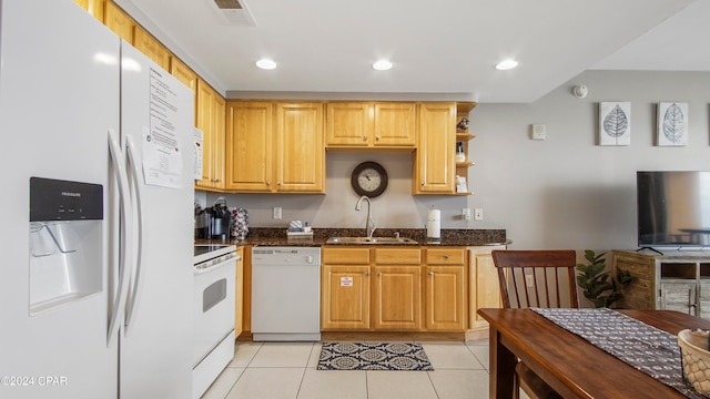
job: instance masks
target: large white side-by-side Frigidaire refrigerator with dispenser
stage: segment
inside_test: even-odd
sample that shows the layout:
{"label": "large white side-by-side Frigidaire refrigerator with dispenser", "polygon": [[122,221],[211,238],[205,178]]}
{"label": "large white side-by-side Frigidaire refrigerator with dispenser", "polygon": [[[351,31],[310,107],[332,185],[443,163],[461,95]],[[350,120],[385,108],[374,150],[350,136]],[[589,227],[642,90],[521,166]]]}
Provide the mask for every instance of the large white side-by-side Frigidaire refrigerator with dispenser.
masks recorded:
{"label": "large white side-by-side Frigidaire refrigerator with dispenser", "polygon": [[0,0],[0,398],[191,396],[193,104],[71,0]]}

